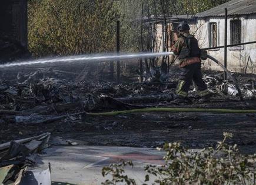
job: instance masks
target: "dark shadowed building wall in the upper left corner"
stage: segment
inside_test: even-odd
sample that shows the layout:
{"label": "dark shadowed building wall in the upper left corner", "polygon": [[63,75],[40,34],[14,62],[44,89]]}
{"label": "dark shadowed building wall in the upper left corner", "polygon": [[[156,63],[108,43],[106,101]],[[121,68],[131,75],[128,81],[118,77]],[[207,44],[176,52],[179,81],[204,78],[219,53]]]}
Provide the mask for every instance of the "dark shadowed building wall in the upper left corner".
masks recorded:
{"label": "dark shadowed building wall in the upper left corner", "polygon": [[27,0],[0,1],[0,32],[12,41],[28,45],[28,14]]}

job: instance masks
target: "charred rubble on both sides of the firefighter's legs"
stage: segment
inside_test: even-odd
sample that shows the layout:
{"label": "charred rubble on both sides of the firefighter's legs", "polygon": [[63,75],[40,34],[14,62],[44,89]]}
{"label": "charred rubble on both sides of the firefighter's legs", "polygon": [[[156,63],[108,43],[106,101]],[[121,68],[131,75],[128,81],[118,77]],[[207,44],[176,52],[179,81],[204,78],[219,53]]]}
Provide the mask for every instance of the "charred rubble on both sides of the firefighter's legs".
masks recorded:
{"label": "charred rubble on both sides of the firefighter's legs", "polygon": [[[0,80],[1,123],[49,123],[68,117],[81,117],[86,112],[162,106],[175,98],[178,80],[117,84],[102,80],[76,81],[76,72],[37,68],[28,75],[18,72],[16,79]],[[2,73],[4,76],[4,73]],[[237,98],[238,90],[221,73],[210,73],[204,80],[215,97]],[[192,88],[192,86],[191,86]],[[255,97],[255,80],[240,84],[245,98]],[[196,90],[189,97],[196,96]],[[194,102],[196,103],[196,102]]]}

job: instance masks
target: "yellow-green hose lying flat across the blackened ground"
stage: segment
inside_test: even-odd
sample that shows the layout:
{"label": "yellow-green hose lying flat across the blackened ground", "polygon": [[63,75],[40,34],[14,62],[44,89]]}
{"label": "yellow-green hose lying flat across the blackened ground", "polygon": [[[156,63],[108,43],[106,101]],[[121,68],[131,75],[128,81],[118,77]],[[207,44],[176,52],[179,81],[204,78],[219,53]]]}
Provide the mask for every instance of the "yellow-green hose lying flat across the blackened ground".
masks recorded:
{"label": "yellow-green hose lying flat across the blackened ground", "polygon": [[87,113],[89,116],[115,116],[127,113],[141,112],[207,112],[207,113],[256,113],[256,110],[235,110],[235,109],[197,109],[197,108],[175,108],[157,107],[145,109],[118,110],[113,112]]}

